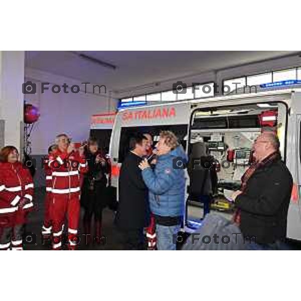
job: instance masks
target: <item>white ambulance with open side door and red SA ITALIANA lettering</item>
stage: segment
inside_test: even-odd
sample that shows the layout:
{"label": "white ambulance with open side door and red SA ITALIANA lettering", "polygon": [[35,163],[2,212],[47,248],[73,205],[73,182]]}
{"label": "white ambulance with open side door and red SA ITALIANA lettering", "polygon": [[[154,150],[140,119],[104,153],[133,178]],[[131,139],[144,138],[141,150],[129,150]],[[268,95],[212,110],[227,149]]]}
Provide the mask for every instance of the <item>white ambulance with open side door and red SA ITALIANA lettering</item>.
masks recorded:
{"label": "white ambulance with open side door and red SA ITALIANA lettering", "polygon": [[[214,177],[209,179],[214,197],[212,210],[230,217],[234,208],[227,201],[227,197],[239,189],[240,178],[248,168],[251,146],[264,127],[277,133],[282,160],[293,177],[287,238],[301,240],[299,85],[282,89],[277,86],[277,90],[262,85],[258,87],[257,93],[237,93],[121,109],[116,115],[110,140],[112,186],[118,191],[120,167],[128,153],[128,142],[133,133],[150,133],[155,144],[162,130],[171,130],[185,148],[188,158],[208,155],[218,162]],[[182,230],[188,233],[200,226],[203,206],[190,199],[192,177],[187,169],[186,210]],[[208,181],[208,175],[202,177],[204,179],[200,178],[200,183]]]}

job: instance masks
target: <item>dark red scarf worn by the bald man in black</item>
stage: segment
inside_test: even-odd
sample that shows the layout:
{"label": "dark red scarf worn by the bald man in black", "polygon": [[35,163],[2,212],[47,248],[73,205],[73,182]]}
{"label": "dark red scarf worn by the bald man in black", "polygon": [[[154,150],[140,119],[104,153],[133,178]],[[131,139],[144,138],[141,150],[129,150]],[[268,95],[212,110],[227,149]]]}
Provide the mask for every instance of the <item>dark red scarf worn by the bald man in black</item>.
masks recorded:
{"label": "dark red scarf worn by the bald man in black", "polygon": [[[267,156],[265,159],[263,159],[261,162],[251,164],[251,166],[246,170],[246,172],[243,174],[241,177],[241,186],[240,186],[240,191],[244,193],[247,187],[247,183],[249,179],[252,177],[252,175],[255,173],[256,170],[263,168],[264,166],[268,165],[269,163],[280,159],[280,153],[279,152],[274,152],[271,155]],[[237,224],[238,226],[240,225],[241,221],[241,212],[240,209],[236,209],[232,221]]]}

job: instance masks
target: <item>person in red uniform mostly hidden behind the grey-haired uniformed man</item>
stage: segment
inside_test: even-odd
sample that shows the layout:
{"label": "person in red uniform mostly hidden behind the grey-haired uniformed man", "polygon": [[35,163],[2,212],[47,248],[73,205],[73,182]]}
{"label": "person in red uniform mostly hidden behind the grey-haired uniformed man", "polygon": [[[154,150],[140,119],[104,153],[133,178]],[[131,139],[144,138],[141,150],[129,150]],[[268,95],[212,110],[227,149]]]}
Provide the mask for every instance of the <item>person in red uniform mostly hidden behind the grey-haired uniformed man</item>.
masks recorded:
{"label": "person in red uniform mostly hidden behind the grey-haired uniformed man", "polygon": [[[50,239],[52,230],[51,221],[51,203],[52,203],[52,171],[48,166],[49,156],[57,151],[57,145],[53,144],[48,148],[48,157],[44,160],[44,172],[46,176],[46,196],[44,202],[44,222],[42,227],[42,235],[44,240]],[[46,165],[47,164],[47,165]]]}

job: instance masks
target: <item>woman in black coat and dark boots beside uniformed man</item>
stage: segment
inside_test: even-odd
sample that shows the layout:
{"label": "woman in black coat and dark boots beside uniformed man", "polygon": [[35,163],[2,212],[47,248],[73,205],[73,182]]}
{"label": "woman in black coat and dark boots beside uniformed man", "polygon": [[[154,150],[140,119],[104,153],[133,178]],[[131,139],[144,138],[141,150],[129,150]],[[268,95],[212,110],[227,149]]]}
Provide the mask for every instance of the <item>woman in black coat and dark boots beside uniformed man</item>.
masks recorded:
{"label": "woman in black coat and dark boots beside uniformed man", "polygon": [[[81,205],[85,210],[84,231],[85,234],[92,234],[91,223],[94,215],[94,234],[101,237],[102,210],[106,206],[108,164],[94,139],[89,139],[85,153],[88,173],[84,176],[81,193]],[[87,236],[87,240],[89,238],[91,235]]]}

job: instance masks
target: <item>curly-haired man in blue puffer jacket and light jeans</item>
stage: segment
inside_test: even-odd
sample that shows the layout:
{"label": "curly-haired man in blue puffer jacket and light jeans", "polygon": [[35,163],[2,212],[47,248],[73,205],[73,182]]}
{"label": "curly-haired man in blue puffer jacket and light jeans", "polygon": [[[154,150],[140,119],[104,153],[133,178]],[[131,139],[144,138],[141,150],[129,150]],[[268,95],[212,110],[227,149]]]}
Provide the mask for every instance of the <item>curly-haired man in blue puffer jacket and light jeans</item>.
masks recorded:
{"label": "curly-haired man in blue puffer jacket and light jeans", "polygon": [[180,231],[185,201],[185,172],[181,163],[187,156],[171,131],[161,132],[156,148],[155,169],[150,168],[146,159],[139,168],[149,190],[150,210],[156,220],[158,250],[176,250],[175,238]]}

